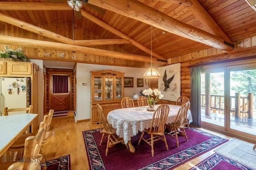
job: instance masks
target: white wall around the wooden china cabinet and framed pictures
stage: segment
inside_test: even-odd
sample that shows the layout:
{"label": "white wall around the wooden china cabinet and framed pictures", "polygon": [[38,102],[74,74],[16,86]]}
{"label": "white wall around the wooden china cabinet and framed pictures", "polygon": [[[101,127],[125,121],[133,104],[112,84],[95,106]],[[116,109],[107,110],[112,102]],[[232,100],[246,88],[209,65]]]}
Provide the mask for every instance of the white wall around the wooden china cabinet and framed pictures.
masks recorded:
{"label": "white wall around the wooden china cabinet and framed pictures", "polygon": [[[140,94],[140,90],[148,88],[148,85],[137,88],[137,78],[142,78],[146,72],[146,68],[133,68],[133,67],[121,67],[121,66],[106,66],[97,64],[76,64],[76,114],[77,120],[90,119],[90,95],[91,95],[91,79],[90,71],[96,70],[115,70],[124,72],[125,77],[133,77],[133,88],[124,88],[124,97],[130,97],[134,94]],[[86,86],[82,86],[82,83],[86,83]]]}

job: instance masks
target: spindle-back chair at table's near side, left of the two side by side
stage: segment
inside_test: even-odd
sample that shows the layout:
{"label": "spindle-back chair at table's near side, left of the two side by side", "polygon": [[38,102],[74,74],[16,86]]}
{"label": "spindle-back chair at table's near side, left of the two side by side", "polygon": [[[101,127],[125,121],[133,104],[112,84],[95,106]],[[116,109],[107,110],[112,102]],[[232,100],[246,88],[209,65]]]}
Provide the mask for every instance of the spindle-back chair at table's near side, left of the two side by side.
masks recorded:
{"label": "spindle-back chair at table's near side, left of the two side by side", "polygon": [[[159,139],[164,141],[165,147],[168,150],[168,145],[166,143],[166,138],[164,135],[164,129],[165,129],[165,123],[166,123],[166,119],[168,117],[169,111],[170,111],[170,107],[167,104],[162,104],[158,106],[154,111],[150,128],[142,131],[140,135],[140,140],[138,142],[138,145],[140,145],[141,140],[145,141],[148,145],[151,146],[152,156],[154,156],[154,142],[158,141]],[[148,139],[143,138],[143,135],[145,132],[150,135],[150,138]]]}

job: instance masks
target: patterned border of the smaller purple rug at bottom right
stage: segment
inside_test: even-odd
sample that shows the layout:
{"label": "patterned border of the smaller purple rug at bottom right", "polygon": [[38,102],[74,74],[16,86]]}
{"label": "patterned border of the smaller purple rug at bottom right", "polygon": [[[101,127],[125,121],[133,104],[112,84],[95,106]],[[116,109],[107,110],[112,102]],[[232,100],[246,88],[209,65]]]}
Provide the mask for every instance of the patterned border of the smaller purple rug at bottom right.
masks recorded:
{"label": "patterned border of the smaller purple rug at bottom right", "polygon": [[229,164],[237,166],[241,170],[254,170],[254,169],[249,168],[246,165],[243,165],[239,162],[236,162],[236,161],[234,161],[230,158],[227,158],[225,156],[222,156],[218,153],[214,153],[213,155],[209,156],[202,162],[196,164],[193,168],[190,168],[189,170],[210,170],[210,169],[214,168],[214,166],[216,166],[222,160],[224,160],[225,162],[227,162]]}

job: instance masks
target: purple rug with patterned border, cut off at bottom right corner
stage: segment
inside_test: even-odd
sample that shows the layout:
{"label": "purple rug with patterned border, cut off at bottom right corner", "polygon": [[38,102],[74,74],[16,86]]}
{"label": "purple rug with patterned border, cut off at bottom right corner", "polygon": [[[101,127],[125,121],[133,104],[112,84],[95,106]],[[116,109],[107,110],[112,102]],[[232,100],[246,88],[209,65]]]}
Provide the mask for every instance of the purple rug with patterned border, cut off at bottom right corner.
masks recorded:
{"label": "purple rug with patterned border, cut off at bottom right corner", "polygon": [[213,154],[189,170],[255,170],[220,154]]}

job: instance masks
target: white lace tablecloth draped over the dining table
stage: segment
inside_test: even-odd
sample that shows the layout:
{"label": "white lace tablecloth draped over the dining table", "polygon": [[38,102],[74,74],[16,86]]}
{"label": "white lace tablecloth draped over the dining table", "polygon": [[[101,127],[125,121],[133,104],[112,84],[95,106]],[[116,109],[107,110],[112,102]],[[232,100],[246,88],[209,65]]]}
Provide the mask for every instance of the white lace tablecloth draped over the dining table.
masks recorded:
{"label": "white lace tablecloth draped over the dining table", "polygon": [[[159,104],[155,105],[157,108]],[[172,123],[180,109],[180,106],[169,105],[170,112],[166,120],[166,124]],[[108,123],[116,129],[116,134],[119,137],[124,138],[124,143],[127,144],[133,136],[135,136],[139,131],[148,129],[151,125],[151,120],[153,116],[153,111],[147,111],[148,106],[142,107],[131,107],[124,109],[112,110],[108,113]],[[192,122],[191,111],[188,110],[187,118],[188,123]]]}

